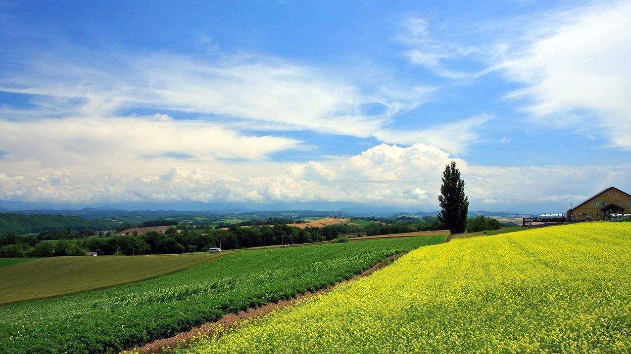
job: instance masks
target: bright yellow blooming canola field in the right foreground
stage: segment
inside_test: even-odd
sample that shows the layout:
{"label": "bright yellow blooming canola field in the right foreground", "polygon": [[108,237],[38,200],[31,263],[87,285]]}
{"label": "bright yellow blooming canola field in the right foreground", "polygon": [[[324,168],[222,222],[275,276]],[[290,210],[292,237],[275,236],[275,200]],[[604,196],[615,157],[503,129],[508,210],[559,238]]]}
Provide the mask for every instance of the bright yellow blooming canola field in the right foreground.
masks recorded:
{"label": "bright yellow blooming canola field in the right foreground", "polygon": [[630,353],[630,251],[631,224],[452,240],[176,353]]}

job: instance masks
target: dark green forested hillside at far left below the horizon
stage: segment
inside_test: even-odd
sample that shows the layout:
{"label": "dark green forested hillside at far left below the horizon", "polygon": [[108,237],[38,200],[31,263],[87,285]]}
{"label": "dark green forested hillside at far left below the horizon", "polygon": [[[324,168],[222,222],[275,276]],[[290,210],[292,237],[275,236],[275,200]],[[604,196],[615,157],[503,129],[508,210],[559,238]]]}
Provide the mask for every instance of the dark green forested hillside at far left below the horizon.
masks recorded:
{"label": "dark green forested hillside at far left below the horizon", "polygon": [[107,230],[115,229],[117,222],[110,220],[87,220],[70,215],[25,215],[25,214],[0,214],[0,234],[15,232],[25,234],[27,232],[42,232],[48,230]]}

